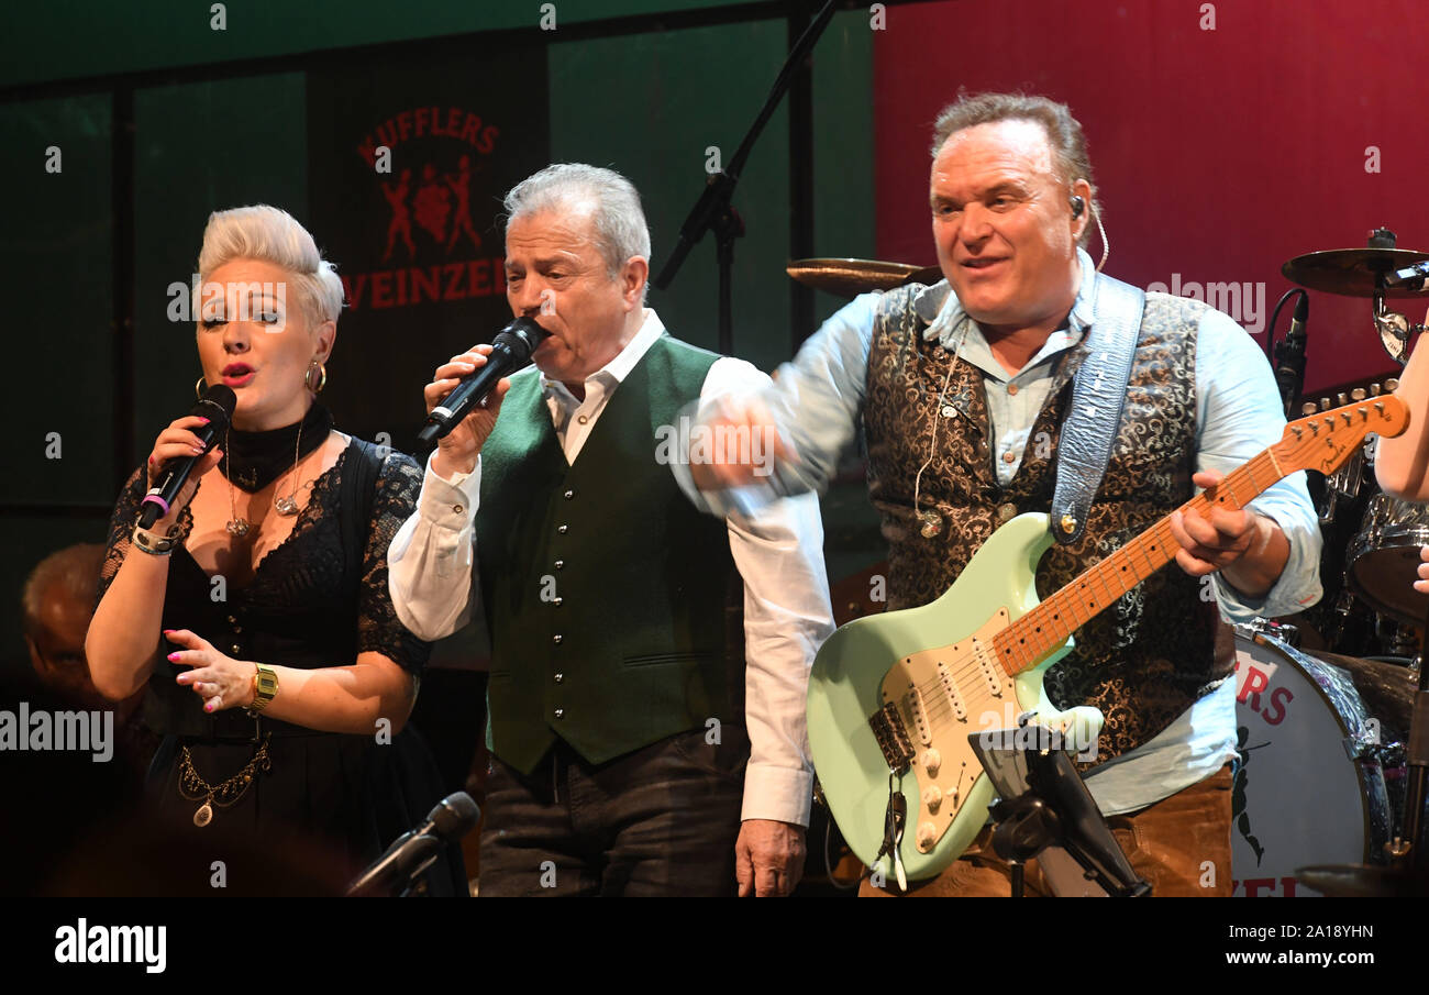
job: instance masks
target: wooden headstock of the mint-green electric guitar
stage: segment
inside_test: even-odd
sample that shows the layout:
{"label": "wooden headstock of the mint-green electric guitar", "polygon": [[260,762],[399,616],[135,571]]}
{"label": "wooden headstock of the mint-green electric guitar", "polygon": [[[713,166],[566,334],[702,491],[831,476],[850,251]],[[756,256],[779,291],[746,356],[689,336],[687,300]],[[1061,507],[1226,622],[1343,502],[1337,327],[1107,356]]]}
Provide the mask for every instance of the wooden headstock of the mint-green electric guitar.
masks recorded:
{"label": "wooden headstock of the mint-green electric guitar", "polygon": [[1339,407],[1330,407],[1329,399],[1319,405],[1306,403],[1302,409],[1306,417],[1285,426],[1280,442],[1270,447],[1276,462],[1286,473],[1295,470],[1318,470],[1326,476],[1333,473],[1365,442],[1365,436],[1376,433],[1393,437],[1409,427],[1409,406],[1393,395],[1398,380],[1370,385],[1369,390],[1356,389],[1340,395]]}

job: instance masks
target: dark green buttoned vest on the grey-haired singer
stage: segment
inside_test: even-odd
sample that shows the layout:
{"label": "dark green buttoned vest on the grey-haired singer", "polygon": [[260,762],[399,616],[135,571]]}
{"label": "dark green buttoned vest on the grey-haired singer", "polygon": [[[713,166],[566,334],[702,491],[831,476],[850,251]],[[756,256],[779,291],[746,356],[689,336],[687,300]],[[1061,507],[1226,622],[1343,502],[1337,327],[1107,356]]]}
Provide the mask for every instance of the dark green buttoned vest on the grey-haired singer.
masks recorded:
{"label": "dark green buttoned vest on the grey-haired singer", "polygon": [[[482,447],[476,569],[492,633],[487,745],[530,773],[564,739],[603,763],[709,719],[743,725],[743,585],[722,519],[656,462],[719,359],[662,336],[574,465],[534,370]],[[669,429],[666,429],[669,430]]]}

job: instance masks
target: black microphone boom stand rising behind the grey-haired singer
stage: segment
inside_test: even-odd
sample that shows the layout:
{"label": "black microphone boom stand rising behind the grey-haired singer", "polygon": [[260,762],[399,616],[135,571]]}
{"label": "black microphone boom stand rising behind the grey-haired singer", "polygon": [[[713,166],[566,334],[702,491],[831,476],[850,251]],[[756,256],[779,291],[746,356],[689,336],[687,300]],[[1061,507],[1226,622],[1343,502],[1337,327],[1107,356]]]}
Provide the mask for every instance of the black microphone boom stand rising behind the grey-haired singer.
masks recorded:
{"label": "black microphone boom stand rising behind the grey-haired singer", "polygon": [[680,226],[680,237],[676,239],[674,249],[670,252],[669,259],[664,260],[664,266],[660,267],[659,276],[652,280],[656,290],[667,289],[670,282],[674,280],[674,274],[680,272],[684,257],[690,254],[690,249],[704,237],[706,232],[713,232],[714,257],[719,263],[719,350],[726,355],[735,350],[735,317],[730,283],[730,272],[735,267],[735,239],[745,234],[745,220],[735,210],[733,204],[735,186],[745,172],[745,160],[749,159],[749,153],[753,150],[755,142],[759,140],[760,132],[765,130],[765,124],[769,123],[775,109],[779,107],[779,102],[789,91],[795,71],[807,59],[819,36],[829,27],[832,19],[833,0],[829,0],[789,51],[789,57],[785,60],[785,66],[779,70],[779,77],[775,80],[773,90],[770,90],[769,97],[765,100],[765,106],[760,109],[753,126],[750,126],[749,133],[745,134],[745,140],[739,143],[735,156],[723,169],[712,173],[704,180],[704,190],[700,193],[699,200],[694,202],[694,207],[690,209],[684,224]]}

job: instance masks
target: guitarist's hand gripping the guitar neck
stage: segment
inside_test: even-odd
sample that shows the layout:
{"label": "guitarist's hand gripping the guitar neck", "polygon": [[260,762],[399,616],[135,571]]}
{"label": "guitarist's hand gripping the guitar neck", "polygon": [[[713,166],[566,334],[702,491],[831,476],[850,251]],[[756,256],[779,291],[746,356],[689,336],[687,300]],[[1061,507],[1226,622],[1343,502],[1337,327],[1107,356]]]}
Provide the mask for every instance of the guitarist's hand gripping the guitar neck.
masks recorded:
{"label": "guitarist's hand gripping the guitar neck", "polygon": [[[1209,490],[1225,476],[1219,470],[1202,470],[1192,483]],[[1193,578],[1220,570],[1226,583],[1249,598],[1269,593],[1290,559],[1290,540],[1280,526],[1250,509],[1213,508],[1209,519],[1195,512],[1175,512],[1170,533],[1180,545],[1176,553],[1180,569]]]}

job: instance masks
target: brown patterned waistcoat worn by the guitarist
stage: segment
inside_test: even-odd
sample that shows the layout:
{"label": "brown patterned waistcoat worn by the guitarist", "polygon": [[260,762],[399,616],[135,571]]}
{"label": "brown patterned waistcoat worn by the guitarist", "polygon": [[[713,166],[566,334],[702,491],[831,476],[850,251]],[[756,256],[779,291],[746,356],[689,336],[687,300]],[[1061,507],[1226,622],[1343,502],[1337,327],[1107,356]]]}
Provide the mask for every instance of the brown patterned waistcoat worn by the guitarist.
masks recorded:
{"label": "brown patterned waistcoat worn by the guitarist", "polygon": [[[1016,476],[1003,487],[993,469],[983,373],[952,360],[947,393],[939,389],[952,353],[925,342],[913,309],[920,286],[885,294],[869,352],[865,430],[869,496],[889,543],[889,608],[915,608],[940,596],[993,530],[1023,512],[1047,512],[1072,375],[1096,330],[1057,360],[1052,390],[1037,415]],[[1147,294],[1126,410],[1112,460],[1082,539],[1053,546],[1037,568],[1046,598],[1119,549],[1192,496],[1196,456],[1196,329],[1205,305]],[[952,416],[940,412],[952,409]],[[913,479],[923,470],[919,503],[945,526],[926,539],[913,510]],[[1106,716],[1097,761],[1145,743],[1235,669],[1215,659],[1218,609],[1202,585],[1170,565],[1087,622],[1076,649],[1046,675],[1059,708],[1095,705]]]}

